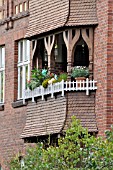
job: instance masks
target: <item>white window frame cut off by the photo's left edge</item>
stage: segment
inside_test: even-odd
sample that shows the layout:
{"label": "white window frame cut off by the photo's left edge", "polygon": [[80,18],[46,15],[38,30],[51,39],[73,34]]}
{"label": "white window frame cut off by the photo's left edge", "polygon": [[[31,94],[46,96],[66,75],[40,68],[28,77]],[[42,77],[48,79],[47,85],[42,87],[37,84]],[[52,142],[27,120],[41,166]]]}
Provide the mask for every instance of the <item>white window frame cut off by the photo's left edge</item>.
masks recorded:
{"label": "white window frame cut off by the photo's left edge", "polygon": [[[2,63],[0,63],[0,104],[4,103],[4,94],[5,94],[5,46],[0,46],[0,57]],[[3,81],[1,74],[3,73]],[[3,87],[3,89],[2,89]],[[3,91],[3,97],[2,92]]]}

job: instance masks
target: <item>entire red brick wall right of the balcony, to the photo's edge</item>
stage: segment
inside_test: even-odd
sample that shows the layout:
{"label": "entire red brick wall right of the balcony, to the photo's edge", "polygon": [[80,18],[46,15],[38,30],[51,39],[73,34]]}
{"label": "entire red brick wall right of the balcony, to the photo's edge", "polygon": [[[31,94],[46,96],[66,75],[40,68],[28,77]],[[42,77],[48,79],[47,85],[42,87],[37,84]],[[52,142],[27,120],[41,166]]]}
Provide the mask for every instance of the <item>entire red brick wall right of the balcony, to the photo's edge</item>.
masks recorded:
{"label": "entire red brick wall right of the balcony, to the photo's edge", "polygon": [[99,135],[113,124],[113,1],[97,1],[94,78],[98,81],[96,114]]}

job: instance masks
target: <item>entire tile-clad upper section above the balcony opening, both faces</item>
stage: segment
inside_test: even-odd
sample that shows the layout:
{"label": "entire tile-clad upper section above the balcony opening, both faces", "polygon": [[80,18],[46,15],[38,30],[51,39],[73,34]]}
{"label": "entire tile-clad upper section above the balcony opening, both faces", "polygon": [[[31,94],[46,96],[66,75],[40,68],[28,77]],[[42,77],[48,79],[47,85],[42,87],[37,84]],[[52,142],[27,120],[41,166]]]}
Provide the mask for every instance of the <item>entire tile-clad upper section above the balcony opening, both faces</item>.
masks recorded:
{"label": "entire tile-clad upper section above the balcony opening, both faces", "polygon": [[63,26],[97,24],[96,0],[32,0],[26,37]]}

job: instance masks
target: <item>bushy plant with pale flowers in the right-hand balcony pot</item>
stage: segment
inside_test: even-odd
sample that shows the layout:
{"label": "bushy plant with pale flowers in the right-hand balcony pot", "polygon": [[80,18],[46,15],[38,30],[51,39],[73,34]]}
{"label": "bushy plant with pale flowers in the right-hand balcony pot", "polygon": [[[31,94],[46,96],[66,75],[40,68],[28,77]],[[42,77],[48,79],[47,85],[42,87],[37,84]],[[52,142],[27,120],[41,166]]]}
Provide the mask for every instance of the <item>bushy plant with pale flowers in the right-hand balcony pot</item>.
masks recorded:
{"label": "bushy plant with pale flowers in the right-hand balcony pot", "polygon": [[72,69],[71,76],[73,78],[76,77],[88,77],[89,76],[89,69],[83,66],[76,66]]}

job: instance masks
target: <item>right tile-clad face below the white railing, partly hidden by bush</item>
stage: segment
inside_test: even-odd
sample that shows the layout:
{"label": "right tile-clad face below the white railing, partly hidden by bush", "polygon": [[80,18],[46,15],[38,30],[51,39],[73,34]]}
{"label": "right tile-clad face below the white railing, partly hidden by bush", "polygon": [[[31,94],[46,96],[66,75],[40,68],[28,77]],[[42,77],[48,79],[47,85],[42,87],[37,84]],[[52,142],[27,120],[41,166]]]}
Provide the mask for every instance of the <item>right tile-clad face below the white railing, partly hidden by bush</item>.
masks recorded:
{"label": "right tile-clad face below the white railing, partly hidden by bush", "polygon": [[89,96],[86,96],[85,92],[69,92],[67,98],[68,107],[64,130],[67,129],[74,115],[89,132],[97,132],[95,92],[91,92]]}

